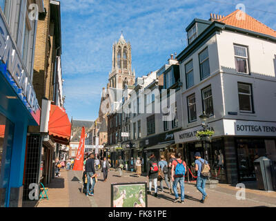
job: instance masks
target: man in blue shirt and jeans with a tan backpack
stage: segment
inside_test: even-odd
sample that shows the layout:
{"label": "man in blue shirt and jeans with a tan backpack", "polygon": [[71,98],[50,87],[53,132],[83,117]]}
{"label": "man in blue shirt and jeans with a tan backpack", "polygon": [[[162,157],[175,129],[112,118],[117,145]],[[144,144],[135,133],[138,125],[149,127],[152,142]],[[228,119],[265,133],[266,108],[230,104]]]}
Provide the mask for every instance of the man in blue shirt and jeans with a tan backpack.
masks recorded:
{"label": "man in blue shirt and jeans with a tan backpack", "polygon": [[195,171],[197,171],[197,189],[202,193],[201,203],[204,203],[208,195],[205,192],[205,184],[209,175],[210,166],[208,162],[201,158],[199,152],[195,153]]}

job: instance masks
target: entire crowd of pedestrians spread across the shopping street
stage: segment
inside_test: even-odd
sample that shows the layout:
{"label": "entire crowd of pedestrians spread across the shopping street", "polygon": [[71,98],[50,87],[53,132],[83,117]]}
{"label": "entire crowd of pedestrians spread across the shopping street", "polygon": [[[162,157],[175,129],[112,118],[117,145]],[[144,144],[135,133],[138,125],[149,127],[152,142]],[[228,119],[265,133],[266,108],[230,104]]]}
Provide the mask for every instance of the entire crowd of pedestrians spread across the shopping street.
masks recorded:
{"label": "entire crowd of pedestrians spread across the shopping street", "polygon": [[[205,191],[206,180],[210,173],[210,166],[208,162],[201,158],[200,153],[195,153],[195,171],[197,172],[197,189],[202,194],[200,202],[204,203],[208,198]],[[55,173],[59,176],[59,169],[66,166],[66,170],[72,168],[73,162],[68,159],[66,162],[61,162],[57,158],[55,161]],[[140,157],[131,157],[129,162],[129,169],[131,172],[136,173],[137,177],[141,176],[143,161]],[[94,187],[97,182],[97,177],[101,171],[103,173],[103,182],[106,182],[108,178],[108,172],[110,171],[111,160],[108,157],[99,157],[94,154],[90,154],[83,161],[83,188],[86,189],[87,196],[93,196],[95,194]],[[116,160],[114,167],[119,170],[119,177],[122,176],[124,168],[126,169],[126,163],[121,156]],[[151,153],[146,164],[146,177],[148,178],[148,194],[152,194],[152,184],[154,186],[154,196],[158,195],[157,182],[159,181],[160,193],[164,193],[164,182],[170,191],[169,193],[175,196],[174,202],[185,202],[185,175],[187,173],[187,165],[183,160],[181,153],[171,153],[168,162],[164,155],[160,156],[157,160],[154,153]],[[180,199],[179,199],[180,191]]]}

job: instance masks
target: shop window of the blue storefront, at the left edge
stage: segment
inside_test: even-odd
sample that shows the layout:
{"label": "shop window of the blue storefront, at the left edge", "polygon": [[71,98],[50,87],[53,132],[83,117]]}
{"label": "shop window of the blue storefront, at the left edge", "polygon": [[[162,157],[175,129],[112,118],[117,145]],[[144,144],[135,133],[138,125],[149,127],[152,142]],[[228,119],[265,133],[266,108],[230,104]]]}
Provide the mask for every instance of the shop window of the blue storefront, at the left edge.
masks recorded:
{"label": "shop window of the blue storefront, at the left edge", "polygon": [[0,207],[7,206],[14,124],[0,114]]}

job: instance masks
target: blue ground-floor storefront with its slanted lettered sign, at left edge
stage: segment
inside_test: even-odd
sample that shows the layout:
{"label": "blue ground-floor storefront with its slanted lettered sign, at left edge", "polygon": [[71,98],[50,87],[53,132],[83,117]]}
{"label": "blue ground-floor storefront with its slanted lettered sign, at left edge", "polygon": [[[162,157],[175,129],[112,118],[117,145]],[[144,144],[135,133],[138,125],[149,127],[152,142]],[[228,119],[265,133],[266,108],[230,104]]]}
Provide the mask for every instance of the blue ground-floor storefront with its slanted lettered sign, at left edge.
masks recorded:
{"label": "blue ground-floor storefront with its slanted lettered sign, at left edge", "polygon": [[21,206],[28,126],[40,108],[21,53],[0,16],[0,206]]}

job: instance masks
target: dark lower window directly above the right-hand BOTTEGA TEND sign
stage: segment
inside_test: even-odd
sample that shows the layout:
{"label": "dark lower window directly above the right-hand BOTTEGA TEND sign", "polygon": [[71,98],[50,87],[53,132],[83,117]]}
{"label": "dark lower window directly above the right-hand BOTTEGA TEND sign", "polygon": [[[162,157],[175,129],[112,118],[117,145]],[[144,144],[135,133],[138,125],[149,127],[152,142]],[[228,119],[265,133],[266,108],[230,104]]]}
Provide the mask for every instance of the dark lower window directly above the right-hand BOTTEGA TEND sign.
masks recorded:
{"label": "dark lower window directly above the right-hand BOTTEGA TEND sign", "polygon": [[253,97],[251,84],[238,83],[239,111],[253,113]]}

